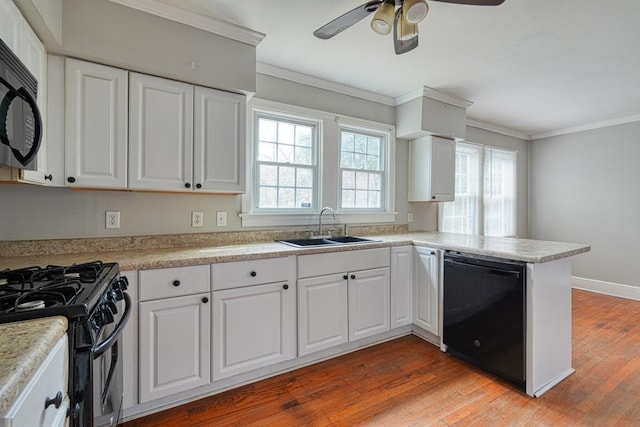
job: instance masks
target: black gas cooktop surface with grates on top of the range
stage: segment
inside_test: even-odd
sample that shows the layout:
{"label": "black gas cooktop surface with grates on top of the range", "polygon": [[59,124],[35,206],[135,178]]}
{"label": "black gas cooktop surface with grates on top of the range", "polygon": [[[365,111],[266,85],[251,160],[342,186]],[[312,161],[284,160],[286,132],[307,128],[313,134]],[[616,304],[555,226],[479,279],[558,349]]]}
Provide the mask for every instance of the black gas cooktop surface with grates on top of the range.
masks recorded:
{"label": "black gas cooktop surface with grates on top of the range", "polygon": [[86,316],[118,273],[117,264],[100,261],[0,271],[0,323]]}

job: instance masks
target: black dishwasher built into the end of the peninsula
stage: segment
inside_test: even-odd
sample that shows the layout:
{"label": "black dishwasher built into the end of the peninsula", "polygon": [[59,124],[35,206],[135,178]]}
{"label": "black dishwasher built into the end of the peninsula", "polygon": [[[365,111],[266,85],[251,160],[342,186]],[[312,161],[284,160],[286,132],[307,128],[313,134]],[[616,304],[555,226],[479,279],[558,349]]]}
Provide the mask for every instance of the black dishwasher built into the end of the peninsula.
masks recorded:
{"label": "black dishwasher built into the end of the peninsula", "polygon": [[443,343],[447,352],[525,386],[526,264],[447,251]]}

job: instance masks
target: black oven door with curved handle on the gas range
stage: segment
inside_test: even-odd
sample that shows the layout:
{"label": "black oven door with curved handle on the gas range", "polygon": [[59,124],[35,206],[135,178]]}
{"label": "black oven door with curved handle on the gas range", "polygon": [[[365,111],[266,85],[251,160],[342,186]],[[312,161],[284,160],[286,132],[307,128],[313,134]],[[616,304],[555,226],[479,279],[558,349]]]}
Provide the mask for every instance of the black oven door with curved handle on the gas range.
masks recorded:
{"label": "black oven door with curved handle on the gas range", "polygon": [[115,321],[104,326],[93,349],[94,426],[115,426],[121,422],[123,375],[122,332],[131,312],[131,299],[124,293]]}

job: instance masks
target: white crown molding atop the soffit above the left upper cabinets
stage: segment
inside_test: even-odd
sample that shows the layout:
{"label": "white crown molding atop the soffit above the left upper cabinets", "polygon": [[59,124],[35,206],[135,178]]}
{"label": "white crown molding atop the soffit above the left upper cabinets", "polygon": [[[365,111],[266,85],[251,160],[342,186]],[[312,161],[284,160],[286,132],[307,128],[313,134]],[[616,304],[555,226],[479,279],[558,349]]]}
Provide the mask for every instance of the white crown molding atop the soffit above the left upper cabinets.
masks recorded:
{"label": "white crown molding atop the soffit above the left upper cabinets", "polygon": [[140,10],[181,24],[189,25],[231,40],[257,46],[265,35],[230,22],[191,12],[157,0],[109,0],[122,6]]}

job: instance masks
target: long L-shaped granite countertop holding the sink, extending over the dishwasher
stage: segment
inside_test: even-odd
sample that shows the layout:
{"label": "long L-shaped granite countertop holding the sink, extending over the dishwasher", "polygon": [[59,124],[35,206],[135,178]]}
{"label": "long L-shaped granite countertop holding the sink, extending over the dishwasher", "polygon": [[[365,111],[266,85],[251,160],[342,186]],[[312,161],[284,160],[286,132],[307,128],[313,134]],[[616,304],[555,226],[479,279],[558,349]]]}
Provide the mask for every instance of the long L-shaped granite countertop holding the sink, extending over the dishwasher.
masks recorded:
{"label": "long L-shaped granite countertop holding the sink, extending over the dishwasher", "polygon": [[129,271],[412,244],[530,263],[549,262],[591,250],[590,246],[578,243],[549,242],[512,237],[471,236],[439,232],[403,233],[365,237],[375,239],[376,242],[296,248],[273,241],[194,248],[114,250],[64,255],[12,256],[0,258],[0,269],[15,269],[31,265],[68,265],[101,260],[103,262],[117,262],[120,264],[121,271]]}

